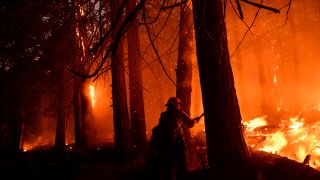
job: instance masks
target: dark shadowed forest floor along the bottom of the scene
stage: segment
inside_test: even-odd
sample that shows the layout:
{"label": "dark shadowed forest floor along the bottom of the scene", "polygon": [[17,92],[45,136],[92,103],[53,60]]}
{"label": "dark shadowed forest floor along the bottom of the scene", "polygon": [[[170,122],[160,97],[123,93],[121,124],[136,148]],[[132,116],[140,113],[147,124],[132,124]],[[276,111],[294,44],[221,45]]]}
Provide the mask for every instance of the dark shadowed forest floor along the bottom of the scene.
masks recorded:
{"label": "dark shadowed forest floor along the bottom of the scene", "polygon": [[[147,159],[147,155],[141,155],[119,163],[110,145],[86,151],[69,147],[64,152],[0,152],[0,179],[144,180]],[[320,179],[320,171],[275,154],[254,152],[253,163],[257,180]],[[211,179],[205,148],[190,151],[187,166],[188,179]]]}

